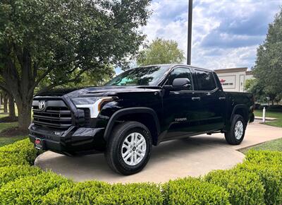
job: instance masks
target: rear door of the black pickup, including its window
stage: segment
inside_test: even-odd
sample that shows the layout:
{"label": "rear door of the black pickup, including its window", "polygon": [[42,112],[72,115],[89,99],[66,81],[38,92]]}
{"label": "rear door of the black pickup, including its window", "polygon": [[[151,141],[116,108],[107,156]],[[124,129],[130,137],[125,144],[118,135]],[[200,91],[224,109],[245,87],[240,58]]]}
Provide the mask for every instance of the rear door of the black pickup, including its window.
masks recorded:
{"label": "rear door of the black pickup, including its window", "polygon": [[194,75],[202,107],[199,112],[200,131],[222,129],[226,115],[225,93],[216,85],[212,71],[195,69]]}

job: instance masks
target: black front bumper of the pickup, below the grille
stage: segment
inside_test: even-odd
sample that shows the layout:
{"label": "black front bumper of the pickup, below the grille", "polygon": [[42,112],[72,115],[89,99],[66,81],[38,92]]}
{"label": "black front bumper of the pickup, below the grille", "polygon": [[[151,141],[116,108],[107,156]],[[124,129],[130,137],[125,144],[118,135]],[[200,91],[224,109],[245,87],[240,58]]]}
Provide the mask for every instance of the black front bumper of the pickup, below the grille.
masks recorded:
{"label": "black front bumper of the pickup, below the grille", "polygon": [[71,126],[66,131],[55,131],[37,127],[30,124],[30,141],[35,144],[35,139],[42,141],[42,149],[66,155],[78,153],[99,153],[106,148],[104,141],[104,128],[84,128]]}

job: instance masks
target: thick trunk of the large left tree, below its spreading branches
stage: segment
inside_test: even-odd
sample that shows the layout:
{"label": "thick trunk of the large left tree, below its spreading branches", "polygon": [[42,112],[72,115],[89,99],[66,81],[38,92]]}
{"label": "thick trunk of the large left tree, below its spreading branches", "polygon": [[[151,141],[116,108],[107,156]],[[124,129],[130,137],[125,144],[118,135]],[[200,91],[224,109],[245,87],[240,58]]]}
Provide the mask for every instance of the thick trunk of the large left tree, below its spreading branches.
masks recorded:
{"label": "thick trunk of the large left tree, below its spreading branches", "polygon": [[16,100],[18,106],[18,128],[27,131],[31,122],[32,98],[25,100]]}

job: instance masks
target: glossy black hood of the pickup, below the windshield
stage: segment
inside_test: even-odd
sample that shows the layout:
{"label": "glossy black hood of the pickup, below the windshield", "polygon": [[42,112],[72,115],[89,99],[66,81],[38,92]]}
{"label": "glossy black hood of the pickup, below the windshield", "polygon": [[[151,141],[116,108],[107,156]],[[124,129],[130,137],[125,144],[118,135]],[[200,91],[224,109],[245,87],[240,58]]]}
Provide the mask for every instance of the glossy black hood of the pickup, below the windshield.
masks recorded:
{"label": "glossy black hood of the pickup, below the windshield", "polygon": [[102,97],[114,96],[118,93],[137,93],[137,92],[154,92],[160,90],[159,86],[102,86],[102,87],[88,87],[88,88],[63,88],[53,89],[37,93],[35,96],[58,96],[67,95],[69,98],[78,97]]}

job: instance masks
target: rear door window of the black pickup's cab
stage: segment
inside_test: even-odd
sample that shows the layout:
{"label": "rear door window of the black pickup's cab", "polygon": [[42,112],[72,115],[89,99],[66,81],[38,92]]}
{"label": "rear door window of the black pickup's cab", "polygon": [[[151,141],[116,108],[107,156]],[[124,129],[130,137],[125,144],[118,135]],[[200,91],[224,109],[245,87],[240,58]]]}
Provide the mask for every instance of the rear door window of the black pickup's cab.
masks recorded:
{"label": "rear door window of the black pickup's cab", "polygon": [[197,79],[198,90],[214,90],[216,88],[216,81],[214,81],[212,72],[196,69],[195,78]]}

